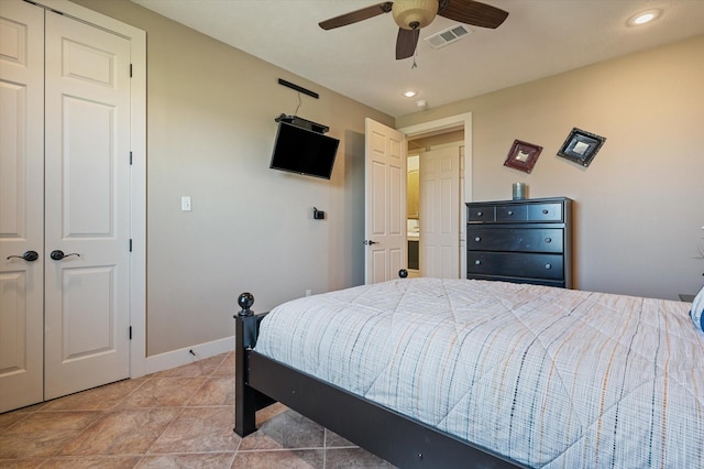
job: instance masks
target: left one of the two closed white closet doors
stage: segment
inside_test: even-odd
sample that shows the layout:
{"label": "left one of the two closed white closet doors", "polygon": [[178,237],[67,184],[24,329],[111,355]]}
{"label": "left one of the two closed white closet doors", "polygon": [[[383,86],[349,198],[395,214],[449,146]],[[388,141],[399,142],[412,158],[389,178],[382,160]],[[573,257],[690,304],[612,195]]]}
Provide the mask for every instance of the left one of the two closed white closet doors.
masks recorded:
{"label": "left one of the two closed white closet doors", "polygon": [[[0,0],[0,412],[4,412],[43,396],[44,11]],[[35,260],[30,260],[32,252]]]}

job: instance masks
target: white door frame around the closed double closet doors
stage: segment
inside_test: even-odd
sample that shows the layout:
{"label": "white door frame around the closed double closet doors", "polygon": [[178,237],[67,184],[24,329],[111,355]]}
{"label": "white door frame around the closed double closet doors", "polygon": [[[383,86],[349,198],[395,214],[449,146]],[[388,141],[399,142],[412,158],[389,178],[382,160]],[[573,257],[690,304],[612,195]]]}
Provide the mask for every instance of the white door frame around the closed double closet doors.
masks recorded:
{"label": "white door frame around the closed double closet doors", "polygon": [[34,0],[43,8],[130,40],[130,378],[146,374],[146,32],[68,0]]}

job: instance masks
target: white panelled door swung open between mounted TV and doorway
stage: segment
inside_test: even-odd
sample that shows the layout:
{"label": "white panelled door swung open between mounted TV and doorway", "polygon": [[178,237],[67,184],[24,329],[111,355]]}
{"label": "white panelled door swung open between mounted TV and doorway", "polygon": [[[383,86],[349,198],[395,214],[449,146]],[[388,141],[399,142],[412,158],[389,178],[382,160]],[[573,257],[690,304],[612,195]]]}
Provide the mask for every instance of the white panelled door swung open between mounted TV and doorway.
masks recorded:
{"label": "white panelled door swung open between mounted TV and doorway", "polygon": [[364,282],[398,277],[406,268],[406,135],[365,121]]}

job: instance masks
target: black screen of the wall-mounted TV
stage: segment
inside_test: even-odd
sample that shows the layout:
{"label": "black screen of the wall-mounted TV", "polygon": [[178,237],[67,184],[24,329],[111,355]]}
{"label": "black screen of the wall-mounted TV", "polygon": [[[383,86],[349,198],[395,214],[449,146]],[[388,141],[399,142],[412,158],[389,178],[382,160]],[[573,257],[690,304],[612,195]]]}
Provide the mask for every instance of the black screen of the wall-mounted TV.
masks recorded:
{"label": "black screen of the wall-mounted TV", "polygon": [[270,167],[329,179],[339,143],[332,137],[279,121]]}

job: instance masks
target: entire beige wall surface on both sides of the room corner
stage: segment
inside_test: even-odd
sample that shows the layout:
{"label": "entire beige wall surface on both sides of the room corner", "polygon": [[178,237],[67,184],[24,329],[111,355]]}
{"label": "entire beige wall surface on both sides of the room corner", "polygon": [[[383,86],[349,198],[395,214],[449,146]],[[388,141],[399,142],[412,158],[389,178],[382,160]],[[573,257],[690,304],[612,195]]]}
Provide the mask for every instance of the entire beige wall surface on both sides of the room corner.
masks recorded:
{"label": "entire beige wall surface on both sides of the room corner", "polygon": [[[364,118],[394,120],[127,0],[76,0],[147,33],[147,355],[229,337],[240,292],[266,310],[308,288],[363,282]],[[702,284],[704,37],[406,116],[473,113],[473,198],[576,200],[578,286],[676,297]],[[341,139],[332,181],[268,170],[274,118]],[[607,137],[587,170],[556,156],[572,127]],[[531,175],[514,139],[544,148]],[[193,211],[180,211],[180,196]],[[328,219],[312,220],[312,207]]]}

